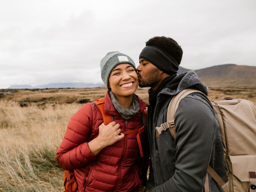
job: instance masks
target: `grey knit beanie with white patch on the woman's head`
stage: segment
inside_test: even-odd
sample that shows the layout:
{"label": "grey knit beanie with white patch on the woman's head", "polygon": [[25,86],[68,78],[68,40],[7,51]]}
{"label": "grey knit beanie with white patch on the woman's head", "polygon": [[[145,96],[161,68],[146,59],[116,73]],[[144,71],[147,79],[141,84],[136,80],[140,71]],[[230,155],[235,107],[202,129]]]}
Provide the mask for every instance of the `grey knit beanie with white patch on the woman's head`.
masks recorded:
{"label": "grey knit beanie with white patch on the woman's head", "polygon": [[129,56],[123,53],[120,53],[119,51],[109,52],[105,57],[101,59],[100,61],[101,79],[105,84],[105,86],[107,87],[108,91],[110,91],[109,82],[108,82],[110,73],[117,65],[122,63],[130,64],[131,66],[133,66],[133,68],[136,71],[134,61]]}

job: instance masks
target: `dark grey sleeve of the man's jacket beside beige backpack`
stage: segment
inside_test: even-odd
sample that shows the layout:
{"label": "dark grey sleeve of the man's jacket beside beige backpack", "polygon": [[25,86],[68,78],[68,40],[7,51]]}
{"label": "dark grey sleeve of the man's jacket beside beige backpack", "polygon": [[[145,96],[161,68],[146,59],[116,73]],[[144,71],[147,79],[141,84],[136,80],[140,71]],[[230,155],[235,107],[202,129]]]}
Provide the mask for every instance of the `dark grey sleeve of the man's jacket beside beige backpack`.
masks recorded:
{"label": "dark grey sleeve of the man's jacket beside beige backpack", "polygon": [[150,191],[203,191],[213,142],[218,133],[216,122],[210,105],[200,96],[189,95],[180,101],[175,113],[175,172],[169,180]]}

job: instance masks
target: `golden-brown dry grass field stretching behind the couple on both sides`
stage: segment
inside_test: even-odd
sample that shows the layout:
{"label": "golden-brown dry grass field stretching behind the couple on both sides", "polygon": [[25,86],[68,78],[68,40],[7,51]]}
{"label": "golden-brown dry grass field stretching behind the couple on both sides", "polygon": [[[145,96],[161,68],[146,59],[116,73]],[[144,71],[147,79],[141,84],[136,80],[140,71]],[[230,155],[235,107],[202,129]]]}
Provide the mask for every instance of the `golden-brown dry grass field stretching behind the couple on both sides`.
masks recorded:
{"label": "golden-brown dry grass field stretching behind the couple on both sides", "polygon": [[[244,98],[256,104],[256,82],[202,79],[209,98]],[[66,125],[83,103],[106,89],[0,90],[0,192],[57,192],[63,171],[55,152]],[[147,89],[136,92],[148,102]]]}

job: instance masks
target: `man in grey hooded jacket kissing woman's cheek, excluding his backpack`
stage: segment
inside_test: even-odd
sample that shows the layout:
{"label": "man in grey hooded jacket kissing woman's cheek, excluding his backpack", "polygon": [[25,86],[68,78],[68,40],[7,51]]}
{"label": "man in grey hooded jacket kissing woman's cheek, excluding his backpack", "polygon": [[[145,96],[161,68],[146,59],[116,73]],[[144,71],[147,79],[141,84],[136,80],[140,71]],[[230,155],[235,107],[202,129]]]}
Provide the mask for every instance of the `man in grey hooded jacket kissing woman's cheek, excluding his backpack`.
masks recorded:
{"label": "man in grey hooded jacket kissing woman's cheek, excluding his backpack", "polygon": [[[180,101],[175,113],[175,139],[169,130],[156,133],[155,127],[166,122],[174,95],[187,88],[208,94],[194,71],[177,75],[182,53],[178,43],[167,37],[149,39],[140,53],[139,86],[151,87],[148,90],[151,162],[145,191],[203,192],[208,164],[226,180],[219,125],[203,95],[190,94]],[[211,192],[222,191],[211,176],[208,178]]]}

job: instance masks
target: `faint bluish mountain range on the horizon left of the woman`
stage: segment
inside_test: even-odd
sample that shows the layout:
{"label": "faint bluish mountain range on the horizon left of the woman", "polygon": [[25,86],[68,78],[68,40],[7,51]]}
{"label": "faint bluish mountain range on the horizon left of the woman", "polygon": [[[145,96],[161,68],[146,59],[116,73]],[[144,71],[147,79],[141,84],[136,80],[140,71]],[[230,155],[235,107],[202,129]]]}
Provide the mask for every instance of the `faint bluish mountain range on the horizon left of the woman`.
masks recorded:
{"label": "faint bluish mountain range on the horizon left of the woman", "polygon": [[100,87],[103,83],[50,83],[46,85],[12,85],[8,89],[45,89],[45,88],[92,88]]}

